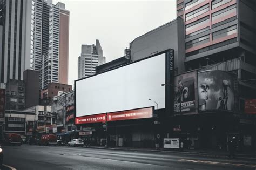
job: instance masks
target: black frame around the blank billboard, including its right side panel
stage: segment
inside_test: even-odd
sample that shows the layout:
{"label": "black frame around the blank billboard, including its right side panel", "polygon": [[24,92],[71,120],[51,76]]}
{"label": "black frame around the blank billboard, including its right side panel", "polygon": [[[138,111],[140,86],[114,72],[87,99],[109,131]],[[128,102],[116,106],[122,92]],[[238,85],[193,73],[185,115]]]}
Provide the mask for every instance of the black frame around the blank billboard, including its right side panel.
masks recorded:
{"label": "black frame around the blank billboard, including its right side panel", "polygon": [[[120,67],[124,67],[124,66],[130,65],[130,64],[138,63],[138,62],[141,62],[143,60],[146,60],[146,59],[149,59],[149,58],[152,58],[152,57],[155,57],[155,56],[159,56],[159,55],[164,54],[164,53],[165,53],[165,82],[163,82],[163,83],[173,84],[173,79],[174,79],[174,50],[173,49],[168,49],[168,50],[165,50],[165,51],[154,53],[154,55],[136,60],[134,62],[123,64],[123,65],[117,66],[117,67],[113,67],[112,69],[105,70],[103,72],[94,74],[92,76],[88,76],[88,77],[84,77],[84,78],[80,78],[80,79],[75,80],[74,81],[74,111],[75,111],[74,115],[75,115],[75,119],[79,118],[79,117],[91,116],[91,115],[82,115],[82,116],[77,117],[77,114],[76,114],[76,112],[77,112],[77,110],[76,110],[76,83],[77,83],[77,81],[84,80],[84,79],[87,79],[87,78],[91,78],[91,77],[94,77],[94,76],[98,76],[99,74],[103,74],[103,73],[106,73],[106,72],[109,72],[109,71],[112,71],[112,70],[116,70],[116,69],[119,69]],[[161,85],[159,84],[159,86],[161,86]],[[173,96],[173,93],[174,93],[174,91],[170,86],[165,86],[165,110],[166,110],[166,113],[170,113],[171,111],[173,112],[173,104],[169,105],[170,103],[173,103],[173,100],[171,100],[171,96]],[[154,106],[152,106],[152,107],[154,108],[153,109],[153,112],[154,112],[155,107]],[[145,108],[145,107],[142,107],[142,108]],[[131,108],[129,110],[137,110],[137,109],[140,109],[140,108]],[[124,111],[129,111],[129,110],[124,110]],[[121,111],[114,111],[114,112],[121,112]],[[114,113],[114,112],[109,112],[109,113]],[[92,114],[92,115],[98,115],[98,114],[107,114],[107,112],[97,113],[97,114]],[[74,121],[74,125],[76,125],[76,120]]]}

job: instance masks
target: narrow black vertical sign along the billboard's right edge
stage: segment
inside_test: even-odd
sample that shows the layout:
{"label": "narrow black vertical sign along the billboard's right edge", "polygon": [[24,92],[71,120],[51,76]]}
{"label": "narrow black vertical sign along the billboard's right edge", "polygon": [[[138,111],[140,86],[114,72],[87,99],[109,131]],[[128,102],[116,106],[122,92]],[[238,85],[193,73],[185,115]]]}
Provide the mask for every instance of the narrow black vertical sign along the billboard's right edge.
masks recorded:
{"label": "narrow black vertical sign along the billboard's right edge", "polygon": [[[165,108],[167,114],[173,114],[173,84],[174,77],[174,50],[170,49],[166,52],[166,78],[165,78]],[[170,104],[170,105],[169,105]]]}

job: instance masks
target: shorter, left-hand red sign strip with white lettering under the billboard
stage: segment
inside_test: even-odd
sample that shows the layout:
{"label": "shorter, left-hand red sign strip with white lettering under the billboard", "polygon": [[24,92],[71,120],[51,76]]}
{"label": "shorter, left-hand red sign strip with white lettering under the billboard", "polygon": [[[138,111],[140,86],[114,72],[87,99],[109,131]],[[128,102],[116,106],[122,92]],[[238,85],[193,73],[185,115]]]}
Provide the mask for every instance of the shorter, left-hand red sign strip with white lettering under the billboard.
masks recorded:
{"label": "shorter, left-hand red sign strip with white lettering under the billboard", "polygon": [[76,118],[76,125],[87,124],[87,123],[98,123],[98,122],[105,122],[105,121],[106,121],[106,114],[87,115],[84,117]]}

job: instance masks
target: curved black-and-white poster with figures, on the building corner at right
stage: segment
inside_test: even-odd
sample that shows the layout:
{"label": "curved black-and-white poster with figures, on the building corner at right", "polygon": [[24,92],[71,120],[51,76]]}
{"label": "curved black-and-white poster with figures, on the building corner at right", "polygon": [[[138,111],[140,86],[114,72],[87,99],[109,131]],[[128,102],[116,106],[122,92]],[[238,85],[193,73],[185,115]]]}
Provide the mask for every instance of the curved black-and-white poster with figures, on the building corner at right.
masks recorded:
{"label": "curved black-and-white poster with figures, on the building corner at right", "polygon": [[225,71],[198,73],[198,110],[234,110],[234,82]]}

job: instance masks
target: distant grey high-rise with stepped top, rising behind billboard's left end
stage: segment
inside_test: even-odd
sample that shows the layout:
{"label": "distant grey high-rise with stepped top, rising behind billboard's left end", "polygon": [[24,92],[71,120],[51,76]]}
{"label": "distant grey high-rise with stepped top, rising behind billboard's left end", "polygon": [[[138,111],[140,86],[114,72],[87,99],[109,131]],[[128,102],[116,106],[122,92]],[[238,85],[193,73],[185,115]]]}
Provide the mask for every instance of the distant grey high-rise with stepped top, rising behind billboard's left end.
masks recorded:
{"label": "distant grey high-rise with stepped top, rising behind billboard's left end", "polygon": [[81,56],[78,57],[78,78],[84,78],[96,73],[96,66],[106,62],[103,57],[102,46],[96,39],[96,45],[82,45]]}

